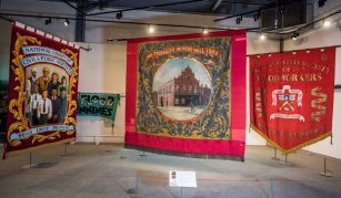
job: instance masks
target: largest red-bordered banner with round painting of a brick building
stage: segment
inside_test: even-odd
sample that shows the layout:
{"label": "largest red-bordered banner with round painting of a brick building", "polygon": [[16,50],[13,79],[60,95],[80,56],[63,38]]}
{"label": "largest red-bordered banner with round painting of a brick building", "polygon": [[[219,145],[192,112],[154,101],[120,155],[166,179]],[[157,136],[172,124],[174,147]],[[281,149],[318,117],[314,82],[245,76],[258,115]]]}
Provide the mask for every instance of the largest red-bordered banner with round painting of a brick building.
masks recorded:
{"label": "largest red-bordered banner with round painting of a brick building", "polygon": [[244,31],[132,39],[127,60],[126,147],[243,160]]}

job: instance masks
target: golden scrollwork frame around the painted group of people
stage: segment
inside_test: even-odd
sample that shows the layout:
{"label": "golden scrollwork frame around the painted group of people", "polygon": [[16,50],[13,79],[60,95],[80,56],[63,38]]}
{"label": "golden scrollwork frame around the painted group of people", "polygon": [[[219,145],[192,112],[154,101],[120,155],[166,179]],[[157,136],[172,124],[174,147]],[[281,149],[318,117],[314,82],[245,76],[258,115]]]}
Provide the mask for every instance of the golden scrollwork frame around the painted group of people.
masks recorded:
{"label": "golden scrollwork frame around the painted group of people", "polygon": [[[24,117],[24,113],[23,113],[23,104],[24,101],[27,100],[27,93],[24,91],[24,70],[23,66],[21,65],[21,61],[23,59],[23,55],[20,54],[20,50],[23,45],[28,45],[28,44],[38,44],[41,45],[41,41],[39,41],[37,38],[33,37],[28,37],[28,35],[20,35],[19,33],[17,33],[17,41],[14,44],[14,50],[12,51],[13,58],[11,60],[11,70],[14,74],[14,92],[18,93],[18,97],[13,98],[10,101],[9,103],[9,113],[12,114],[13,118],[16,119],[14,123],[12,123],[9,126],[8,129],[8,134],[7,134],[7,138],[9,140],[9,144],[11,146],[19,146],[20,144],[22,144],[22,142],[20,139],[13,139],[10,140],[10,136],[12,133],[14,132],[23,132],[29,129],[29,121],[28,118]],[[63,49],[61,50],[63,53],[66,53],[67,55],[70,55],[71,59],[73,60],[73,67],[72,67],[72,76],[70,77],[70,85],[69,85],[69,94],[68,94],[68,114],[67,117],[64,119],[63,124],[73,124],[76,125],[76,119],[72,117],[72,115],[74,114],[76,110],[77,110],[77,101],[72,100],[73,95],[76,94],[76,92],[73,91],[74,87],[77,87],[77,80],[78,80],[78,53],[72,52],[69,49]],[[68,131],[67,135],[72,135],[74,133],[74,131]],[[49,140],[54,140],[56,138],[60,138],[60,132],[57,131],[52,134],[49,135],[41,135],[41,134],[34,134],[33,138],[32,138],[32,144],[34,144],[36,142],[41,143],[46,139]]]}

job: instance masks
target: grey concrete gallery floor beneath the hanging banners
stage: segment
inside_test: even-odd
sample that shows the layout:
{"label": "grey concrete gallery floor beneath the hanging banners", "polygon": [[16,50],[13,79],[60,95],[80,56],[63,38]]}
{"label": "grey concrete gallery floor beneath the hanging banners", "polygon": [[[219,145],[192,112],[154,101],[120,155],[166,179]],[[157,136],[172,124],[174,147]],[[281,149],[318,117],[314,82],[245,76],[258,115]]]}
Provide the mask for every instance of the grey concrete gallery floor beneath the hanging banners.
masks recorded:
{"label": "grey concrete gallery floor beneath the hanging banners", "polygon": [[[122,145],[71,145],[69,156],[57,146],[0,161],[0,197],[181,197],[168,186],[170,169],[197,171],[198,188],[183,197],[341,197],[341,160],[328,158],[333,177],[322,177],[323,156],[298,152],[294,166],[272,160],[273,150],[248,146],[245,161],[191,159],[124,149]],[[2,150],[1,150],[2,153]],[[280,155],[281,158],[283,156]],[[137,187],[138,181],[138,187]]]}

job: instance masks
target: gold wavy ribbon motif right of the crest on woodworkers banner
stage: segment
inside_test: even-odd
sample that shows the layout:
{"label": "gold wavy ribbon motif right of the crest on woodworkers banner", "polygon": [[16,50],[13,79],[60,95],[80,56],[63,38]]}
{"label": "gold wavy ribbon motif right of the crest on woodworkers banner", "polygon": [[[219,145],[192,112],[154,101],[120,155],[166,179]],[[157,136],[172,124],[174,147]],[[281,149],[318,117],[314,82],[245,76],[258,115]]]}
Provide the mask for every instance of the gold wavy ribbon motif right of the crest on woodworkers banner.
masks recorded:
{"label": "gold wavy ribbon motif right of the crest on woodworkers banner", "polygon": [[319,98],[311,101],[311,107],[318,108],[319,111],[311,113],[311,119],[314,122],[320,122],[320,116],[327,113],[327,107],[322,106],[321,103],[324,103],[328,98],[328,95],[321,93],[321,87],[314,87],[311,90],[311,95],[317,96]]}

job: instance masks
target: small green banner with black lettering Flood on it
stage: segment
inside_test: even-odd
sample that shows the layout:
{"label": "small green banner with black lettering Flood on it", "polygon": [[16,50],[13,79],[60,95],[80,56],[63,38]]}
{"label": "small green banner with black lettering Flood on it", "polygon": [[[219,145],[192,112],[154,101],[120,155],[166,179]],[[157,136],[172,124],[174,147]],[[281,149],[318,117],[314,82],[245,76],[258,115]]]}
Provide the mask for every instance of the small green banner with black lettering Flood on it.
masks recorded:
{"label": "small green banner with black lettering Flood on it", "polygon": [[100,116],[114,122],[120,94],[79,93],[77,115]]}

